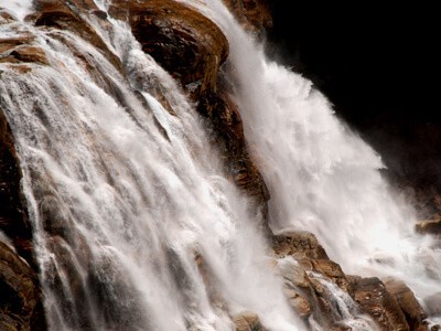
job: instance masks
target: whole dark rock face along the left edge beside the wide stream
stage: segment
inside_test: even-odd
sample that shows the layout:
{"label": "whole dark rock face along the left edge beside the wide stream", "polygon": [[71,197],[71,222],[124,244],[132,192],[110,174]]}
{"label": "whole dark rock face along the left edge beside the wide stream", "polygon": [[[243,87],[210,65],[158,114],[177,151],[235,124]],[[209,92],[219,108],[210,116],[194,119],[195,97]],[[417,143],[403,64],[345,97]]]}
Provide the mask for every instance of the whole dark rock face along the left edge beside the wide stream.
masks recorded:
{"label": "whole dark rock face along the left edge beside the wide stream", "polygon": [[[45,330],[32,229],[21,202],[20,179],[13,139],[0,109],[0,330]],[[17,252],[2,242],[6,239]]]}

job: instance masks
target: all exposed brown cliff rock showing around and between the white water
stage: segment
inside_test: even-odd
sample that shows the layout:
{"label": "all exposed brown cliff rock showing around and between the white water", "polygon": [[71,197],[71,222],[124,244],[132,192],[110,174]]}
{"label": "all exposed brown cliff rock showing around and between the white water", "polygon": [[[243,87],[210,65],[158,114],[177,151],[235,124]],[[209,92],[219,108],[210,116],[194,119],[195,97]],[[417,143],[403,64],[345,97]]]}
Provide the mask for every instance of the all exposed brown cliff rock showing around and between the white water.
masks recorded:
{"label": "all exposed brown cliff rock showing around and between the white water", "polygon": [[[257,36],[261,38],[265,29],[272,24],[265,1],[232,0],[226,3],[243,25]],[[28,22],[50,33],[53,31],[51,29],[71,31],[100,50],[121,73],[123,64],[108,50],[84,17],[97,17],[104,29],[108,24],[108,14],[128,22],[142,51],[181,82],[211,128],[211,139],[220,150],[227,172],[244,192],[254,197],[258,209],[266,213],[268,192],[247,151],[239,111],[223,77],[222,65],[228,56],[228,42],[219,28],[196,10],[172,0],[118,0],[112,2],[108,14],[100,11],[93,1],[85,0],[68,3],[62,0],[37,0],[35,8],[35,13],[26,18]],[[14,24],[14,21],[6,10],[0,12],[0,24]],[[68,41],[62,36],[60,40],[69,47]],[[30,63],[49,65],[44,51],[39,47],[32,34],[1,40],[0,52],[0,62],[14,65],[17,71],[32,71],[28,65]],[[78,60],[94,73],[99,86],[125,105],[125,96],[117,93],[112,82],[106,79],[87,58],[78,54]],[[160,85],[155,94],[169,109],[170,105]],[[7,330],[44,330],[46,327],[36,280],[37,267],[32,254],[32,228],[21,197],[20,180],[13,137],[8,119],[0,109],[0,229],[15,248],[13,250],[0,243],[0,325]],[[53,215],[49,215],[45,221],[54,237],[60,229]],[[303,319],[305,327],[310,327],[310,317],[313,317],[326,330],[348,330],[342,322],[342,312],[331,293],[331,288],[335,287],[343,296],[355,300],[352,313],[366,320],[366,323],[373,323],[372,319],[381,330],[427,330],[426,313],[406,285],[395,279],[345,275],[338,264],[327,257],[313,234],[293,232],[273,236],[265,224],[262,227],[272,243],[275,260],[279,260],[275,265],[284,279],[287,300]],[[0,237],[1,241],[6,239]],[[198,264],[204,274],[204,261],[198,260]],[[209,284],[209,279],[206,281]],[[236,330],[265,330],[254,312],[235,317],[234,321]]]}

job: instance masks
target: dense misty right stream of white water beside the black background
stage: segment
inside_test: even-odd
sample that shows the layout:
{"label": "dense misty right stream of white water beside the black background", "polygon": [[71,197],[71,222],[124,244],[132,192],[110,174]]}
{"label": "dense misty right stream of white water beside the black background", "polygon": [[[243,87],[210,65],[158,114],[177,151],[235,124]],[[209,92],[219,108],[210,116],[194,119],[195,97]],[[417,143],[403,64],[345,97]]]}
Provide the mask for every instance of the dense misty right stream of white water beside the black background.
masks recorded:
{"label": "dense misty right stream of white water beside the black background", "polygon": [[269,186],[272,231],[310,231],[344,271],[395,276],[419,299],[440,291],[441,249],[413,232],[415,211],[381,178],[379,156],[310,81],[268,60],[222,4],[193,4],[228,38],[230,83]]}

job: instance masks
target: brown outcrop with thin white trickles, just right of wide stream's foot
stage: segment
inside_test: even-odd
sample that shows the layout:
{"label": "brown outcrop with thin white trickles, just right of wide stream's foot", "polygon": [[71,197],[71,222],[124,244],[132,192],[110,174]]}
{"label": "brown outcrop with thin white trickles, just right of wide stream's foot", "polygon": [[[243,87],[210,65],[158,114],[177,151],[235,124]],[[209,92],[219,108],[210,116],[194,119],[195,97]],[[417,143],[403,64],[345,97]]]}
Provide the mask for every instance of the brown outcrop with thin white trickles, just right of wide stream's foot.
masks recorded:
{"label": "brown outcrop with thin white trickles, just right of wide stream's foot", "polygon": [[343,327],[334,292],[349,296],[352,289],[342,268],[329,259],[316,237],[308,232],[290,232],[275,236],[272,243],[293,310],[306,324],[312,317],[326,330]]}

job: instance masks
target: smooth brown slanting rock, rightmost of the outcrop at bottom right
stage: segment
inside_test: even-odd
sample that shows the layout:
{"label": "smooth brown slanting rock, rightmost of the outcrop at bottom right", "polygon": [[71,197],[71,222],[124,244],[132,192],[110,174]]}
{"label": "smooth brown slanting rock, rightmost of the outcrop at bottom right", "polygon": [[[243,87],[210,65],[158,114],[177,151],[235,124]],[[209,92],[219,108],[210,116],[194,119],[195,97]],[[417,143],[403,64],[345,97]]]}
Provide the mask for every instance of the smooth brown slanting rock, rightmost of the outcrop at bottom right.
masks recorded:
{"label": "smooth brown slanting rock, rightmost of the outcrop at bottom right", "polygon": [[424,328],[424,319],[427,318],[427,313],[418,302],[412,290],[404,281],[398,279],[386,278],[383,281],[389,293],[397,299],[401,311],[405,313],[410,330],[419,330],[419,328]]}

